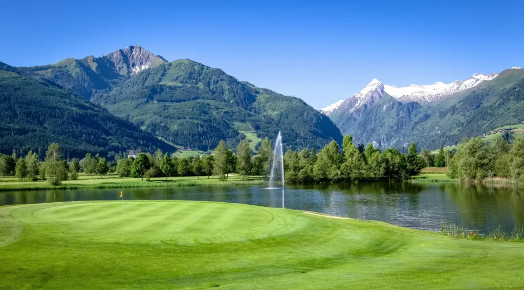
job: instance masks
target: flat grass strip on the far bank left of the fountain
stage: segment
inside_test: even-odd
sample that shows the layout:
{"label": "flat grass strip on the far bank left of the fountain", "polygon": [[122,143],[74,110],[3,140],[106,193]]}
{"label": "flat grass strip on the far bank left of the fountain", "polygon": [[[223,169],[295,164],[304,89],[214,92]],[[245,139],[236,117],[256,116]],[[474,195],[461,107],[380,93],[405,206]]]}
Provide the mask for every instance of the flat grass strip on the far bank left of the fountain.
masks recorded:
{"label": "flat grass strip on the far bank left of the fountain", "polygon": [[168,177],[151,178],[151,181],[141,180],[140,178],[119,178],[116,175],[91,176],[81,175],[78,180],[66,180],[62,185],[52,186],[45,180],[19,182],[15,177],[0,178],[0,191],[15,190],[49,190],[49,189],[85,189],[85,188],[140,188],[140,187],[188,187],[188,186],[236,186],[236,185],[262,185],[266,181],[259,176],[246,177],[231,175],[226,181],[220,181],[217,177],[206,176],[198,177]]}

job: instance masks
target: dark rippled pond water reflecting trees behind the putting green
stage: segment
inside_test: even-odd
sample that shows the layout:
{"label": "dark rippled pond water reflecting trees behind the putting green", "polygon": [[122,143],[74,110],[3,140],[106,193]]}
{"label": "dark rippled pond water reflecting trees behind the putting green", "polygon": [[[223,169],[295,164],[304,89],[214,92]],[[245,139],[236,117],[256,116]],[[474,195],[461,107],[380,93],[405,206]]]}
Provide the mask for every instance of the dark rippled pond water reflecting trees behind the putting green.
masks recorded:
{"label": "dark rippled pond water reflecting trees behind the putting green", "polygon": [[[118,200],[120,189],[0,192],[0,205]],[[282,207],[282,190],[264,187],[124,189],[126,200],[196,200]],[[524,226],[524,189],[454,183],[290,185],[285,207],[438,231],[441,222],[486,231]]]}

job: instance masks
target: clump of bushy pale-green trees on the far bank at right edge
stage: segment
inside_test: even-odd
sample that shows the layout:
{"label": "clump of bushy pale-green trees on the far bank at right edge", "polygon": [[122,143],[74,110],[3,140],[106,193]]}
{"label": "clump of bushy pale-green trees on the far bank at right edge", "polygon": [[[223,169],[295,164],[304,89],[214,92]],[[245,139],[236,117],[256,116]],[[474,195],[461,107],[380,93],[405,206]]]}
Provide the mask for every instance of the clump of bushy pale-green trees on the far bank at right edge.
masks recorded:
{"label": "clump of bushy pale-green trees on the far bank at right edge", "polygon": [[524,181],[524,137],[513,144],[501,136],[491,143],[479,137],[465,139],[449,162],[448,175],[465,180],[500,177]]}

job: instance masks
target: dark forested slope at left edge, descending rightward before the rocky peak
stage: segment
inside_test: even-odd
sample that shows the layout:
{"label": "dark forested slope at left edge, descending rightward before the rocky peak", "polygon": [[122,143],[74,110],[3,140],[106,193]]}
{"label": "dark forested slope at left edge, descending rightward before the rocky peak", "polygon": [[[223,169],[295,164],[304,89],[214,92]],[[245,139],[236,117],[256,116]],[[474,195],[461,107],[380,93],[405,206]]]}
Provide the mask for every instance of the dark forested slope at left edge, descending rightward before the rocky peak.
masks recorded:
{"label": "dark forested slope at left edge, descending rightward before the rocky peak", "polygon": [[59,143],[69,157],[85,153],[154,151],[176,148],[106,109],[49,82],[17,73],[0,62],[0,152],[33,150],[42,158],[50,143]]}

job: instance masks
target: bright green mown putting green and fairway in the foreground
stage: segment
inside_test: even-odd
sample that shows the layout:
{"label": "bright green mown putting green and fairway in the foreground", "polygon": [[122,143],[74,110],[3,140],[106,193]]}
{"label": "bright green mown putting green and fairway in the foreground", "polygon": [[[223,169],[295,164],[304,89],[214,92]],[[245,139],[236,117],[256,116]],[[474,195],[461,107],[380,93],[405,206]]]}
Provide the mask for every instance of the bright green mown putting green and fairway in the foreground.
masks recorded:
{"label": "bright green mown putting green and fairway in the foreground", "polygon": [[0,288],[522,288],[524,243],[243,204],[0,207]]}

